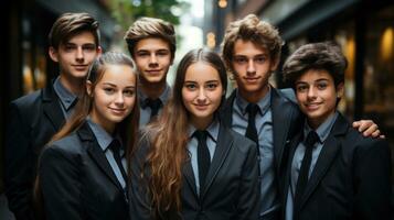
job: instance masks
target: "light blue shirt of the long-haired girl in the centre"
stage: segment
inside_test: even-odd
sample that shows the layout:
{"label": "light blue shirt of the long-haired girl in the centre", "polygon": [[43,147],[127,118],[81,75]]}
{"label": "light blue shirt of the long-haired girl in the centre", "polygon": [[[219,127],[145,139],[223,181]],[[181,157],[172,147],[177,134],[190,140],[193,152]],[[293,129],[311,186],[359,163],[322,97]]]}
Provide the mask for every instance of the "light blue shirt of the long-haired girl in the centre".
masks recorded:
{"label": "light blue shirt of the long-haired girl in the centre", "polygon": [[[216,150],[217,135],[219,135],[220,123],[214,120],[211,125],[206,129],[209,135],[206,138],[206,146],[210,151],[211,162]],[[189,125],[189,138],[188,150],[191,158],[191,164],[194,173],[195,188],[200,195],[200,178],[199,178],[199,162],[198,162],[198,145],[199,141],[193,133],[196,129],[193,125]]]}

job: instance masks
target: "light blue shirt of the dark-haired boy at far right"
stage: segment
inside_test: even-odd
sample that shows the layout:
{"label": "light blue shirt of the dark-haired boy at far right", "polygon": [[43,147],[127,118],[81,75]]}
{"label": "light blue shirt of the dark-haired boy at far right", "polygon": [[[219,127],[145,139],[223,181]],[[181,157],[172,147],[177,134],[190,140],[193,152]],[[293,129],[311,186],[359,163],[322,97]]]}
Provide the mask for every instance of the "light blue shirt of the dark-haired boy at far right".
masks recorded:
{"label": "light blue shirt of the dark-haired boy at far right", "polygon": [[[323,147],[323,144],[324,144],[327,138],[329,136],[329,134],[331,132],[331,129],[337,120],[337,117],[338,117],[338,112],[331,114],[316,130],[316,133],[319,135],[319,141],[313,145],[312,160],[310,162],[308,177],[310,177],[310,175],[313,172],[313,168],[316,166],[316,163],[318,162],[320,152]],[[295,155],[292,156],[292,161],[291,161],[290,186],[289,186],[289,190],[287,193],[287,199],[286,199],[286,220],[292,220],[294,197],[296,196],[298,175],[301,169],[302,158],[304,158],[305,150],[306,150],[304,142],[306,141],[307,135],[310,131],[312,131],[312,129],[308,125],[307,121],[305,121],[304,140],[302,140],[302,142],[300,142],[297,145],[297,150],[296,150]]]}

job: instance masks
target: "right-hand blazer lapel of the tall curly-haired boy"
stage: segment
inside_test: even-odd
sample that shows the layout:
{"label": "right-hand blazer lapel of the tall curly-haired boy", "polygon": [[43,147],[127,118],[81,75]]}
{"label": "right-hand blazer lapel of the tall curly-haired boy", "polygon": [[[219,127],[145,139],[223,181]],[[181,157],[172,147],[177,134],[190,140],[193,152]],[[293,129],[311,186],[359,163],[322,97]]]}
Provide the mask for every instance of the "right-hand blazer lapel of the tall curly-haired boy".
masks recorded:
{"label": "right-hand blazer lapel of the tall curly-haired boy", "polygon": [[278,95],[275,88],[271,88],[271,113],[273,113],[273,140],[274,155],[276,161],[276,172],[279,174],[279,168],[286,145],[286,138],[289,132],[292,114],[290,102]]}

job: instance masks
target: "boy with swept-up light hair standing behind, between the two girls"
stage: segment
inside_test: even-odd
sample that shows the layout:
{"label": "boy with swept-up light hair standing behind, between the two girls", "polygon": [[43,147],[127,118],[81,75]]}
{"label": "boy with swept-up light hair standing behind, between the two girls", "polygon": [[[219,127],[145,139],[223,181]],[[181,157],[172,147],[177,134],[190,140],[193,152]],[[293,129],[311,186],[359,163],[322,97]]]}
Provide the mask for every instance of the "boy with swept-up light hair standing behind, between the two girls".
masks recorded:
{"label": "boy with swept-up light hair standing behind, between the two girls", "polygon": [[175,56],[175,31],[161,19],[141,18],[130,25],[125,40],[139,69],[139,125],[142,127],[161,112],[171,96],[167,74]]}

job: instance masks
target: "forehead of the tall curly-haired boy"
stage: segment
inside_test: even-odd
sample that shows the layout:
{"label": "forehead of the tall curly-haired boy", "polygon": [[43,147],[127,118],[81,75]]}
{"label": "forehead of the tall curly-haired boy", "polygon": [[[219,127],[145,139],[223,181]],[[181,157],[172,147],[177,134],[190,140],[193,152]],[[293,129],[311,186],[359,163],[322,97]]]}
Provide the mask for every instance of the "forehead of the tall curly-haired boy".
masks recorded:
{"label": "forehead of the tall curly-haired boy", "polygon": [[234,56],[256,56],[268,55],[268,51],[263,46],[257,46],[252,41],[236,40],[233,50]]}

